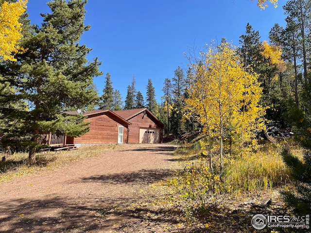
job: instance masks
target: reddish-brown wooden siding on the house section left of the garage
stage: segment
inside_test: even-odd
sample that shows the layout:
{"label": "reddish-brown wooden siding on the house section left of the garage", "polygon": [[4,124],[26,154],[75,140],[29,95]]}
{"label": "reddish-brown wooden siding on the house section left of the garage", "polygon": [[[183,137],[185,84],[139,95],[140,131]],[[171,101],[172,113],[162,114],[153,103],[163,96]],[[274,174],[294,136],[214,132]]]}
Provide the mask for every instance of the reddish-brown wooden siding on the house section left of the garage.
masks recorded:
{"label": "reddish-brown wooden siding on the house section left of the garage", "polygon": [[[118,129],[119,125],[118,119],[115,116],[107,116],[105,114],[95,114],[89,116],[86,122],[91,122],[89,124],[90,131],[81,137],[76,137],[74,139],[75,144],[93,144],[93,143],[103,143],[103,144],[117,144],[118,143]],[[127,125],[123,125],[123,143],[127,143]]]}

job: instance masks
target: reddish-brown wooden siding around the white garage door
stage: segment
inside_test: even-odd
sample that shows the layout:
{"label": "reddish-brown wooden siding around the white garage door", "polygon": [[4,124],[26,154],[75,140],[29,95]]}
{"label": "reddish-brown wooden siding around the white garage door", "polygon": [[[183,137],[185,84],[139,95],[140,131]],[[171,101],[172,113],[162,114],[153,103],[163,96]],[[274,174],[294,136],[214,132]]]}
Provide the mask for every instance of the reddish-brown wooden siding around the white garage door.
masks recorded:
{"label": "reddish-brown wooden siding around the white garage door", "polygon": [[160,126],[156,125],[156,123],[149,118],[148,114],[144,114],[143,112],[134,116],[131,119],[128,119],[132,125],[129,125],[129,134],[128,134],[128,142],[129,143],[139,143],[139,129],[140,128],[154,128],[160,129],[160,142],[162,141],[162,129]]}

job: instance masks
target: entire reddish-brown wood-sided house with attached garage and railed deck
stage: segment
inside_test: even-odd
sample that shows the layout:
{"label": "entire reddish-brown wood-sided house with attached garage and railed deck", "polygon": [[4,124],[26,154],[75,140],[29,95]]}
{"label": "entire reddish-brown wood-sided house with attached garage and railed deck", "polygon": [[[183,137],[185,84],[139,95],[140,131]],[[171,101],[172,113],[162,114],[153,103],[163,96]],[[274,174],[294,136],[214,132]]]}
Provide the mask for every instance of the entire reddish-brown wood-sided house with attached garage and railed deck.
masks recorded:
{"label": "entire reddish-brown wood-sided house with attached garage and railed deck", "polygon": [[[65,114],[77,115],[78,111]],[[81,113],[80,113],[81,114]],[[147,109],[121,111],[94,110],[82,113],[90,122],[90,130],[80,137],[42,135],[50,147],[86,144],[161,143],[164,125]]]}

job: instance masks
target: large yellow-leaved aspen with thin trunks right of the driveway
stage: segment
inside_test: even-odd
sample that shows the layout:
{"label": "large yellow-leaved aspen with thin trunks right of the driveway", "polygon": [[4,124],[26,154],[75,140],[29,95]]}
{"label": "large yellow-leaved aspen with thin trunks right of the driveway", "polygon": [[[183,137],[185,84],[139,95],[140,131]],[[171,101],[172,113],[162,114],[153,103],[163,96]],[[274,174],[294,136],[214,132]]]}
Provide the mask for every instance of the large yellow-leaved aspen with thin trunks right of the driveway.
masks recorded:
{"label": "large yellow-leaved aspen with thin trunks right of the driveway", "polygon": [[208,151],[211,169],[212,141],[219,142],[222,173],[224,141],[243,148],[253,141],[256,132],[264,129],[265,108],[259,104],[262,88],[258,76],[245,70],[235,49],[225,39],[200,55],[200,61],[190,61],[193,81],[190,96],[185,100],[185,115],[195,116],[203,126],[208,143],[202,143],[201,147]]}

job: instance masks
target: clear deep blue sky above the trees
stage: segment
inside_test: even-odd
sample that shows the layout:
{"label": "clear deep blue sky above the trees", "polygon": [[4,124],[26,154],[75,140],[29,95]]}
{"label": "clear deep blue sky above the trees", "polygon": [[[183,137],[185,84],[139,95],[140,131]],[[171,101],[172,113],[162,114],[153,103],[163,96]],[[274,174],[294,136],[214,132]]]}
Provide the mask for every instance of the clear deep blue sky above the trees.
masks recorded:
{"label": "clear deep blue sky above the trees", "polygon": [[[48,1],[28,1],[32,23],[41,25],[40,13],[50,12]],[[223,37],[238,46],[247,22],[262,41],[268,40],[275,23],[285,26],[285,3],[279,0],[277,8],[269,4],[260,10],[256,0],[88,0],[85,23],[91,29],[80,44],[93,49],[89,60],[102,61],[104,75],[94,78],[100,95],[109,72],[124,101],[135,75],[136,89],[144,98],[152,80],[160,102],[165,78],[173,78],[178,66],[188,69],[184,53]]]}

